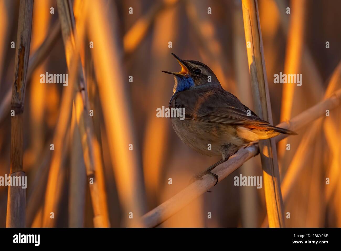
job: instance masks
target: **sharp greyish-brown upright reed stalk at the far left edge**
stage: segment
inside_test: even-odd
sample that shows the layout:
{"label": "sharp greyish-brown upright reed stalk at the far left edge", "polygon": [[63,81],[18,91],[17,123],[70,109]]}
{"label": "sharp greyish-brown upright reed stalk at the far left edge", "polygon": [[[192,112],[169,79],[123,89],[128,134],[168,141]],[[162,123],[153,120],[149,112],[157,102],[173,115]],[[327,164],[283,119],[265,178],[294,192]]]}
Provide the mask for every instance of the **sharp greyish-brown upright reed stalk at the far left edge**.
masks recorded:
{"label": "sharp greyish-brown upright reed stalk at the far left edge", "polygon": [[[30,55],[33,0],[21,0],[15,50],[15,72],[12,88],[11,119],[11,176],[25,177],[23,171],[23,113],[26,76]],[[22,186],[9,186],[6,227],[25,227],[26,190]]]}

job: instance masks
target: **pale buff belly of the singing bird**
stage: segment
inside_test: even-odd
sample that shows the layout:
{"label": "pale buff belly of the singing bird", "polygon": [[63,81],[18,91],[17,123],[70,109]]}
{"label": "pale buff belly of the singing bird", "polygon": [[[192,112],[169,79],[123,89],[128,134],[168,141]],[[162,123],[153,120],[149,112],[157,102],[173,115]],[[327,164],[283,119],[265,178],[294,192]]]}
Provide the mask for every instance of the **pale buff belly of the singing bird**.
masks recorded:
{"label": "pale buff belly of the singing bird", "polygon": [[236,128],[226,124],[171,118],[179,138],[194,151],[208,156],[231,156],[245,145]]}

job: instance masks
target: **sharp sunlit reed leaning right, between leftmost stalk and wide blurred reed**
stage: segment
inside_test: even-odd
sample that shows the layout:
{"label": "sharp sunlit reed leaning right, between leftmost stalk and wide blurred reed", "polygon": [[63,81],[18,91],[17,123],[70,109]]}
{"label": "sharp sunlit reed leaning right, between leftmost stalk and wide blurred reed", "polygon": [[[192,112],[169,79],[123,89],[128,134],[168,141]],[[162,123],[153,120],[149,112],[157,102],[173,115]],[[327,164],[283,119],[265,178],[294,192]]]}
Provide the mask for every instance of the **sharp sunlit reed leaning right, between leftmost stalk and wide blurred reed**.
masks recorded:
{"label": "sharp sunlit reed leaning right, between leftmost stalk and wide blurred reed", "polygon": [[[75,33],[75,19],[73,14],[73,8],[69,4],[68,0],[57,0],[58,14],[61,23],[66,63],[69,71],[72,68],[71,59],[73,57],[79,58],[79,42]],[[85,23],[83,22],[83,26]],[[84,36],[84,28],[80,32],[80,38]],[[85,85],[83,68],[81,61],[77,60],[78,76],[77,83],[78,88],[75,89],[74,102],[76,107],[77,125],[79,127],[79,133],[81,137],[81,143],[83,148],[83,157],[87,171],[87,177],[90,188],[91,202],[94,213],[94,226],[95,227],[109,227],[109,217],[107,213],[106,205],[106,192],[104,185],[99,184],[98,175],[101,172],[97,172],[98,167],[95,166],[95,156],[93,149],[93,123],[89,115],[90,103]],[[77,98],[79,94],[80,98]],[[90,183],[90,179],[92,182]],[[101,179],[104,181],[104,179]]]}

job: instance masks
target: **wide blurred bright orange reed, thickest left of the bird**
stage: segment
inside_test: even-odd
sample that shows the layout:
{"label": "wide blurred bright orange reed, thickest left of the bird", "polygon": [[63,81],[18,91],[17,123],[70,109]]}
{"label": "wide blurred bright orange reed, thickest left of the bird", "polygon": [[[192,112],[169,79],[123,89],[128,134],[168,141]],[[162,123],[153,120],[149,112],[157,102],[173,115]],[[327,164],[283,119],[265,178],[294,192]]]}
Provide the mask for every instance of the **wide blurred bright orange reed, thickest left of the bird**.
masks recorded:
{"label": "wide blurred bright orange reed, thickest left of the bird", "polygon": [[[87,11],[89,37],[94,43],[91,49],[102,104],[109,151],[114,169],[118,197],[122,206],[123,225],[135,225],[145,210],[143,175],[138,159],[138,144],[134,139],[132,113],[122,69],[121,51],[117,43],[117,10],[106,1],[98,1]],[[103,13],[106,12],[106,15]],[[101,29],[98,29],[101,27]],[[105,50],[103,50],[105,48]],[[133,151],[129,150],[133,145]],[[129,212],[133,219],[129,219]],[[138,224],[138,223],[137,223]]]}

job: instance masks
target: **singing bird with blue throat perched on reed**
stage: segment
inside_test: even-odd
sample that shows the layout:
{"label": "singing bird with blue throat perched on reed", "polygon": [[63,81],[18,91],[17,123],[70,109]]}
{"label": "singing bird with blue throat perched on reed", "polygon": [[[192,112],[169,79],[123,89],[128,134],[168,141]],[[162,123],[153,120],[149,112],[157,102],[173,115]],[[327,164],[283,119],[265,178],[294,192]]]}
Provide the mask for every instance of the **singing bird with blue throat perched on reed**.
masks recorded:
{"label": "singing bird with blue throat perched on reed", "polygon": [[258,117],[236,96],[223,89],[207,65],[172,55],[179,62],[181,71],[163,71],[173,74],[175,79],[168,106],[170,109],[184,108],[184,120],[171,118],[173,128],[182,142],[196,152],[222,157],[193,179],[202,179],[209,174],[216,178],[217,184],[218,175],[211,172],[212,169],[227,161],[241,147],[279,134],[296,135]]}

